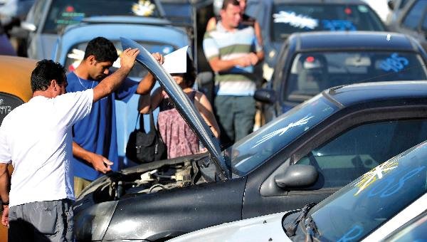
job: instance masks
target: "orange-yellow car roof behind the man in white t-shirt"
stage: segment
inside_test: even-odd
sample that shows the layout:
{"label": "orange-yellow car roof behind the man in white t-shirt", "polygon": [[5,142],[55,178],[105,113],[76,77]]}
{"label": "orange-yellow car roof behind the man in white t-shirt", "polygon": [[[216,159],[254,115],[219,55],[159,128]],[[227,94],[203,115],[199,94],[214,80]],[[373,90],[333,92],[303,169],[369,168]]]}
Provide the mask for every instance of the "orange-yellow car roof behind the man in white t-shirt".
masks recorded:
{"label": "orange-yellow car roof behind the man in white t-shirt", "polygon": [[36,60],[33,59],[0,56],[0,92],[28,102],[33,96],[30,78],[35,67]]}

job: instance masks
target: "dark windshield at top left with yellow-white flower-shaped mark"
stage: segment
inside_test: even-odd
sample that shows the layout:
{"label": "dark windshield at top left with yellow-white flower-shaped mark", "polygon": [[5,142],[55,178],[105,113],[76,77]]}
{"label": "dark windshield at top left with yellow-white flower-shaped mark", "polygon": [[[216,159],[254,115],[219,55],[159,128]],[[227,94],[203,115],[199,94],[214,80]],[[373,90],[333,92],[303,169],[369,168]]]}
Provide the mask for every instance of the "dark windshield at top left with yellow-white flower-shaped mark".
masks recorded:
{"label": "dark windshield at top left with yellow-white flower-shaped mark", "polygon": [[160,15],[154,1],[149,0],[55,0],[48,11],[43,33],[59,33],[66,26],[92,16]]}

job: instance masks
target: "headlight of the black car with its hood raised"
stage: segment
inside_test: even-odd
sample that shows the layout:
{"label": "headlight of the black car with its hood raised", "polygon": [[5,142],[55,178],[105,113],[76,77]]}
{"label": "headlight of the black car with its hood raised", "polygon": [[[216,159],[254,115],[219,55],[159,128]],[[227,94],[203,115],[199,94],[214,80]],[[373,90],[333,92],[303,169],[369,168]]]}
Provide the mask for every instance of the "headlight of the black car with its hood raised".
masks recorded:
{"label": "headlight of the black car with its hood raised", "polygon": [[118,201],[90,206],[74,216],[75,238],[78,241],[100,241],[107,231]]}

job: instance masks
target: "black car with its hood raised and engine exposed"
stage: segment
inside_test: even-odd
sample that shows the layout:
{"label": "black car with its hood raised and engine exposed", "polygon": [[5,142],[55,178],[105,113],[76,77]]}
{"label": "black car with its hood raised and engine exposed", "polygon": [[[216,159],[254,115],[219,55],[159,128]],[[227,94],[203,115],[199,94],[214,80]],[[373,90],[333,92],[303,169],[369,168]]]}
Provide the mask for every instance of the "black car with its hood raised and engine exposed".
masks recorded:
{"label": "black car with its hood raised and engine exposed", "polygon": [[318,202],[427,140],[427,82],[325,90],[221,152],[170,75],[138,47],[209,152],[142,164],[93,181],[75,201],[79,241],[162,241]]}

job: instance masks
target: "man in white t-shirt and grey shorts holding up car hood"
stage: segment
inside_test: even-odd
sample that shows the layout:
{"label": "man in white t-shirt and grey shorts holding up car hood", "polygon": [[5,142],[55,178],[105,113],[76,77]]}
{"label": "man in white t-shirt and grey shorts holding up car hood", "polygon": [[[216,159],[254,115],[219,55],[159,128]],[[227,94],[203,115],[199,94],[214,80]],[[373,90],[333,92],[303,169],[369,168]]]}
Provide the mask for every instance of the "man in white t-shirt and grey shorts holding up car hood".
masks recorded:
{"label": "man in white t-shirt and grey shorts holding up car hood", "polygon": [[[119,70],[95,88],[77,93],[65,92],[62,65],[37,63],[31,73],[33,98],[10,112],[0,126],[1,223],[9,226],[9,241],[73,241],[71,127],[90,113],[93,102],[122,83],[138,53],[125,50]],[[14,166],[11,180],[9,163]]]}

